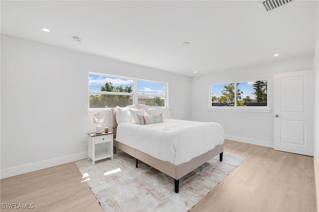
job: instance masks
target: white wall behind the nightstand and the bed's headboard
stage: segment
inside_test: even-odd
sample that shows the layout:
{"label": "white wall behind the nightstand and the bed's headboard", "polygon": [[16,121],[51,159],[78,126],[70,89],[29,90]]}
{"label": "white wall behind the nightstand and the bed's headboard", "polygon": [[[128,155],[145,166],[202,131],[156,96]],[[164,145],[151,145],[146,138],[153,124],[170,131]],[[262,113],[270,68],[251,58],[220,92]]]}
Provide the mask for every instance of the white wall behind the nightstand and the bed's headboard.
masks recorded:
{"label": "white wall behind the nightstand and the bed's headboard", "polygon": [[88,72],[167,82],[190,119],[189,77],[1,34],[1,178],[87,157]]}

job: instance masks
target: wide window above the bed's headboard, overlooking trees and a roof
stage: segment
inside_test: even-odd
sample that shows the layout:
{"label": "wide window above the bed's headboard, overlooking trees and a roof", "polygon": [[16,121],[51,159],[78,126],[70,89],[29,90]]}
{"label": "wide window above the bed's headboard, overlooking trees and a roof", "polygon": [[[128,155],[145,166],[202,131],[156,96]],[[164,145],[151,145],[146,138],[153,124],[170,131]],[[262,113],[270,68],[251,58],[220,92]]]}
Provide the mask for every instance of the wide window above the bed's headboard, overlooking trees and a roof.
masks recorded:
{"label": "wide window above the bed's headboard, overlooking trees and a roof", "polygon": [[129,105],[167,107],[167,84],[89,73],[89,108]]}

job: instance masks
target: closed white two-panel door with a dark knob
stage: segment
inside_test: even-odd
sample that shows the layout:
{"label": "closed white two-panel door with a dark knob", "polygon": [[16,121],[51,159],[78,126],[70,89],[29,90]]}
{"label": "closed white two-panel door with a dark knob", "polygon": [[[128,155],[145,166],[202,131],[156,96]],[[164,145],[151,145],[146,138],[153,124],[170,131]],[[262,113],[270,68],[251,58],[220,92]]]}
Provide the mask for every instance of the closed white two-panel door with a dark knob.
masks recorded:
{"label": "closed white two-panel door with a dark knob", "polygon": [[274,149],[313,156],[313,70],[274,75],[274,116]]}

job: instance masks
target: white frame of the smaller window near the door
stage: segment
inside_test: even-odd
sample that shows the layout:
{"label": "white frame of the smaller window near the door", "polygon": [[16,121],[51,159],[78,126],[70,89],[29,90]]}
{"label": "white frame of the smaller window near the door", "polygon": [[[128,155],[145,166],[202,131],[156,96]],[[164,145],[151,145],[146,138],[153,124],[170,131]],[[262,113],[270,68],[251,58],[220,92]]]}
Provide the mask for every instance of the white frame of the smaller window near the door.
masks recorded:
{"label": "white frame of the smaller window near the door", "polygon": [[234,98],[234,106],[212,106],[211,104],[211,94],[212,94],[212,86],[220,85],[220,84],[231,84],[234,83],[234,91],[237,91],[237,83],[247,83],[247,82],[256,82],[267,80],[267,84],[269,82],[268,77],[257,78],[252,80],[241,80],[241,81],[232,81],[230,83],[218,83],[218,84],[209,84],[209,98],[208,98],[208,110],[212,111],[242,111],[242,112],[271,112],[272,109],[269,106],[269,90],[267,89],[267,106],[237,106],[237,98],[235,94]]}

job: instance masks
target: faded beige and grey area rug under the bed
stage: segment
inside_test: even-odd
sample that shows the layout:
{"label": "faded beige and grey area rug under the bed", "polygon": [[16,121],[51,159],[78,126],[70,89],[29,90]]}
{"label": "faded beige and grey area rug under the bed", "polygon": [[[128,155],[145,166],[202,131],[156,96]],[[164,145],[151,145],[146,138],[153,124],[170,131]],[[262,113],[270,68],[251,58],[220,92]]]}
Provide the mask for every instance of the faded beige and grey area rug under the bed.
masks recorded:
{"label": "faded beige and grey area rug under the bed", "polygon": [[174,179],[119,151],[114,159],[75,162],[105,212],[187,212],[229,175],[246,157],[224,152],[179,180],[179,193],[174,192]]}

